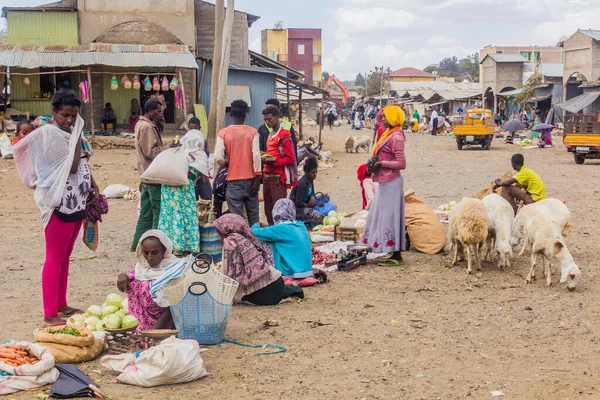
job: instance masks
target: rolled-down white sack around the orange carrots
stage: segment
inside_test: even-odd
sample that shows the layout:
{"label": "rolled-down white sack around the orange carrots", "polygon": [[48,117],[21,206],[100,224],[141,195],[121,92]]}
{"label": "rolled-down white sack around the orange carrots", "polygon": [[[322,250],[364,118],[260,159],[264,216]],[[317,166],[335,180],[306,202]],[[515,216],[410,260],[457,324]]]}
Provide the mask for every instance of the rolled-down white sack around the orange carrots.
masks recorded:
{"label": "rolled-down white sack around the orange carrots", "polygon": [[54,356],[46,347],[30,342],[6,342],[3,345],[25,347],[40,361],[31,365],[13,367],[0,362],[0,395],[35,389],[50,385],[58,379],[59,372],[54,367]]}

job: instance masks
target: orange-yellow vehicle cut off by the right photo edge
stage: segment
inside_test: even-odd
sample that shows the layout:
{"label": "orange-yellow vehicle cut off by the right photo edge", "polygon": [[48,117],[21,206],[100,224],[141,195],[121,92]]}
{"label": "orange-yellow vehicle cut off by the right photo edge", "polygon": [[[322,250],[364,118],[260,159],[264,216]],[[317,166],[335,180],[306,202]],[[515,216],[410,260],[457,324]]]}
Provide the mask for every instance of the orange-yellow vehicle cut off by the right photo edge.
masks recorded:
{"label": "orange-yellow vehicle cut off by the right photo edge", "polygon": [[563,143],[573,153],[575,163],[600,158],[600,114],[576,114],[565,122]]}

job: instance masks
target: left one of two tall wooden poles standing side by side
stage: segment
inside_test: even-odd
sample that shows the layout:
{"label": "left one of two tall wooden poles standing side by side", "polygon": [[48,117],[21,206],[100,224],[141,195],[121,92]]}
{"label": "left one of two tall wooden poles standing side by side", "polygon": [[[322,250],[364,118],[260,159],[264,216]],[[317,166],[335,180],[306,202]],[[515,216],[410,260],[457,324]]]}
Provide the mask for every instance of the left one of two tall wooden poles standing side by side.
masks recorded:
{"label": "left one of two tall wooden poles standing side by side", "polygon": [[212,79],[210,85],[210,111],[208,113],[208,144],[211,149],[217,142],[217,93],[219,86],[219,72],[221,58],[223,57],[223,22],[225,17],[224,0],[215,3],[215,47],[212,59]]}

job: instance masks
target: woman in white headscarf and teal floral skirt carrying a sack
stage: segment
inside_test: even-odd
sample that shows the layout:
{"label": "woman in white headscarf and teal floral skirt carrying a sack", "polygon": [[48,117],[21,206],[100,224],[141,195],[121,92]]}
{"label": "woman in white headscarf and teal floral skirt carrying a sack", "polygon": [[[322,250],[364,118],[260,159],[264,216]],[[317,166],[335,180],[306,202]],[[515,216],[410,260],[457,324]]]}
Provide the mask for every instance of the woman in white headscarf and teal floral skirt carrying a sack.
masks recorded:
{"label": "woman in white headscarf and teal floral skirt carrying a sack", "polygon": [[189,163],[189,183],[187,186],[162,185],[158,229],[173,241],[176,254],[198,253],[200,231],[194,182],[208,177],[204,135],[192,129],[181,138],[181,146]]}

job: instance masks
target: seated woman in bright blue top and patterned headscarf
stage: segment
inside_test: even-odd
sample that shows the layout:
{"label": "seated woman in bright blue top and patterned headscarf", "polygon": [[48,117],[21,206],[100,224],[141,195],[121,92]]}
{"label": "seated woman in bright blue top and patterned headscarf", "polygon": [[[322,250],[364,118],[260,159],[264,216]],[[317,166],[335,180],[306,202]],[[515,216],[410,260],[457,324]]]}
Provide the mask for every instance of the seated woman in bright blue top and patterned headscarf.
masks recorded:
{"label": "seated woman in bright blue top and patterned headscarf", "polygon": [[[313,277],[312,248],[306,226],[296,221],[296,206],[290,199],[279,199],[273,207],[275,225],[252,226],[258,240],[271,244],[275,268],[293,279]],[[308,284],[308,282],[306,282]],[[316,283],[316,280],[312,284]]]}

